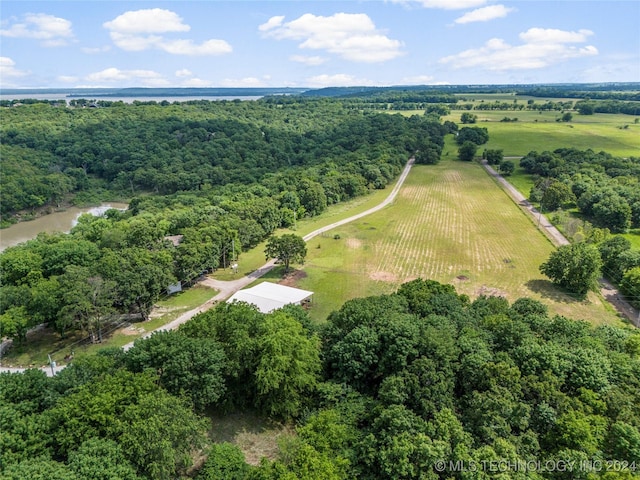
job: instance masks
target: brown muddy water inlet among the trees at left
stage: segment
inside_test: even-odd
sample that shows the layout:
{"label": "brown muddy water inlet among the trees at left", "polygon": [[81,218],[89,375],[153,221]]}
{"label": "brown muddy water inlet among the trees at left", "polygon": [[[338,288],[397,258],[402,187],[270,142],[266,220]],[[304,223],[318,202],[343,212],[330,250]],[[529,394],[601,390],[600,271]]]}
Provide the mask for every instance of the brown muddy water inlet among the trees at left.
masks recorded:
{"label": "brown muddy water inlet among the trees at left", "polygon": [[55,212],[49,215],[38,217],[28,222],[20,222],[11,225],[9,228],[0,230],[0,251],[7,247],[12,247],[27,240],[35,238],[40,232],[68,232],[71,230],[77,219],[83,213],[92,215],[102,215],[110,208],[124,210],[127,208],[126,203],[110,202],[104,203],[99,207],[77,208],[70,207],[64,212]]}

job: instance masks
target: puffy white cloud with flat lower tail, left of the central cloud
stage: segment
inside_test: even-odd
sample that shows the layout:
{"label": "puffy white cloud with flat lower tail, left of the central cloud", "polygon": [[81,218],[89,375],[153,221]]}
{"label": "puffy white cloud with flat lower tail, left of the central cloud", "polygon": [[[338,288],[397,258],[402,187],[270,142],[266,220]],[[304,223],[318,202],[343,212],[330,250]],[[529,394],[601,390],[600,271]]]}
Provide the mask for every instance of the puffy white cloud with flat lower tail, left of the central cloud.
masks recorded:
{"label": "puffy white cloud with flat lower tail, left of the central cloud", "polygon": [[191,27],[175,12],[153,8],[125,12],[102,24],[116,46],[131,52],[157,49],[173,55],[223,55],[233,49],[224,40],[211,39],[196,44],[191,39],[169,39],[165,35],[188,32]]}

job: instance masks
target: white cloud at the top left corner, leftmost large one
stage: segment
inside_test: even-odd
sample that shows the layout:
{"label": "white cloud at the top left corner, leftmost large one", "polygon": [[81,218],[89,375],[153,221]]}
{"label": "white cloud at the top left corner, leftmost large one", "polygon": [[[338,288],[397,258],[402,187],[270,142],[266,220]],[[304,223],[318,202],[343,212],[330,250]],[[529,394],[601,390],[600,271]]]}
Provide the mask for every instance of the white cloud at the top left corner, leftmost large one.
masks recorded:
{"label": "white cloud at the top left corner, leftmost large one", "polygon": [[12,38],[32,38],[45,47],[67,45],[73,39],[71,22],[46,13],[27,13],[23,22],[0,29],[0,35]]}

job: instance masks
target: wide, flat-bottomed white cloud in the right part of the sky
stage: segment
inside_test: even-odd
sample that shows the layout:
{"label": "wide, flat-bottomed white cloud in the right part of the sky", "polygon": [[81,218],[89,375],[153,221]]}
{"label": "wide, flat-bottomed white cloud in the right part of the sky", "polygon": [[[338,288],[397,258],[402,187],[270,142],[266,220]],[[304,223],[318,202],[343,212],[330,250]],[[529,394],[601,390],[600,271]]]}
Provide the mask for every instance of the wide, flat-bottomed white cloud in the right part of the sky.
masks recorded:
{"label": "wide, flat-bottomed white cloud in the right part of the sky", "polygon": [[487,41],[482,47],[465,50],[440,59],[440,63],[454,68],[484,68],[491,71],[527,70],[544,68],[572,58],[598,54],[593,45],[576,47],[570,43],[583,43],[591,32],[531,28],[520,34],[522,45],[509,45],[500,38]]}

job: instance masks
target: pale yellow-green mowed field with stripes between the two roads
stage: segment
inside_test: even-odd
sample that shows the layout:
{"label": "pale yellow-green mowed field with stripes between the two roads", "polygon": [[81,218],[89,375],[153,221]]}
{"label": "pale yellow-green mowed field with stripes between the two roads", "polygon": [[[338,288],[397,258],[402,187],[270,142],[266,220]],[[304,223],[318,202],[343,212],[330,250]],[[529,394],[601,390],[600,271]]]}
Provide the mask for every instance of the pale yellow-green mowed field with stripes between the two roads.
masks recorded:
{"label": "pale yellow-green mowed field with stripes between the two roads", "polygon": [[315,292],[311,314],[319,321],[350,298],[391,293],[420,277],[471,298],[526,296],[552,313],[619,322],[599,295],[575,300],[539,273],[553,250],[480,165],[444,160],[414,166],[391,206],[311,240],[296,285]]}

